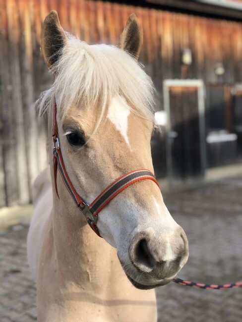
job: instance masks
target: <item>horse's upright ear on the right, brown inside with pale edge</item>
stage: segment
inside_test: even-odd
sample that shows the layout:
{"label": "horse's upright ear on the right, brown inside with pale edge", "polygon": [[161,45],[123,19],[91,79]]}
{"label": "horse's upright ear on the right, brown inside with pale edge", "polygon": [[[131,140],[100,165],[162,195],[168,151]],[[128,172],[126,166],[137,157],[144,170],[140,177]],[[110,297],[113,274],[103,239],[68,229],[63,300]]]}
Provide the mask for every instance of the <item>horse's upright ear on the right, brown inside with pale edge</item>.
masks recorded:
{"label": "horse's upright ear on the right, brown inside with pale edge", "polygon": [[128,17],[121,34],[120,48],[138,59],[143,43],[143,29],[134,13]]}

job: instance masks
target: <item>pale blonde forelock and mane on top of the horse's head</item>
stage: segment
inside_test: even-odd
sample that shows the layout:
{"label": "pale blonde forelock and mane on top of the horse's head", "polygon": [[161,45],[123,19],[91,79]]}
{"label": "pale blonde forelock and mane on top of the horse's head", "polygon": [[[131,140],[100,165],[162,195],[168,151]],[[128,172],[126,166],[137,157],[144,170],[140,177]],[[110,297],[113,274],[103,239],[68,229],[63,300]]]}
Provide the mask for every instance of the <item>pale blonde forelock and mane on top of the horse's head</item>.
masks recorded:
{"label": "pale blonde forelock and mane on top of the horse's head", "polygon": [[54,68],[57,77],[52,88],[37,101],[41,115],[53,104],[56,93],[61,118],[72,104],[101,104],[101,120],[110,100],[121,95],[134,113],[153,120],[152,80],[135,59],[118,47],[88,45],[68,35]]}

